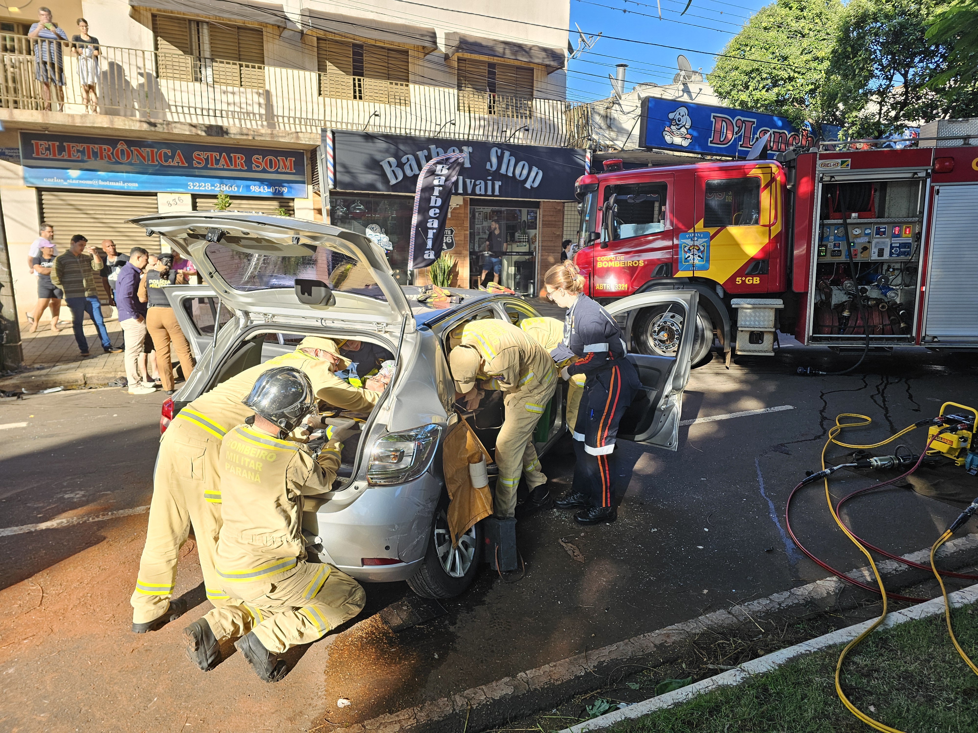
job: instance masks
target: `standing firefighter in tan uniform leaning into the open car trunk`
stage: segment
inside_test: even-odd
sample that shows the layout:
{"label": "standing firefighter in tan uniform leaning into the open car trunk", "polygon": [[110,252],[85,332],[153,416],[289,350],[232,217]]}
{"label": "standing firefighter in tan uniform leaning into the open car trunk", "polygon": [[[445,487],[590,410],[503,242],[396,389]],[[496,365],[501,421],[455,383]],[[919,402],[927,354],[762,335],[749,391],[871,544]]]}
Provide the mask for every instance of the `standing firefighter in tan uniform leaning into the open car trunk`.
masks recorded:
{"label": "standing firefighter in tan uniform leaning into the open car trunk", "polygon": [[[132,630],[152,631],[186,611],[183,599],[170,600],[177,557],[191,524],[197,539],[207,599],[215,606],[237,605],[221,590],[214,551],[221,529],[218,452],[225,433],[250,414],[242,400],[270,368],[296,367],[309,376],[317,399],[333,407],[369,412],[380,392],[352,387],[333,374],[347,365],[333,340],[304,338],[295,351],[245,369],[201,395],[177,414],[163,434],[156,457],[153,499],[146,546],[132,594]],[[382,387],[381,387],[382,389]]]}

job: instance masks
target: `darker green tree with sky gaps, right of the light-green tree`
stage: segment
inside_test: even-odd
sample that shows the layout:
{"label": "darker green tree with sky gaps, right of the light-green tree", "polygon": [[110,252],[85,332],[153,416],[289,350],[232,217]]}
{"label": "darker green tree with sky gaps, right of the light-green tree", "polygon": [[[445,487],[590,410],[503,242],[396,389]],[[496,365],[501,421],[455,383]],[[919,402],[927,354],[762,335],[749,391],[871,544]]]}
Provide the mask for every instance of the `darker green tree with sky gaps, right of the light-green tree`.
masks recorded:
{"label": "darker green tree with sky gaps, right of the light-green tree", "polygon": [[946,116],[949,94],[930,83],[948,56],[926,38],[933,9],[931,0],[850,0],[825,75],[825,121],[878,138]]}

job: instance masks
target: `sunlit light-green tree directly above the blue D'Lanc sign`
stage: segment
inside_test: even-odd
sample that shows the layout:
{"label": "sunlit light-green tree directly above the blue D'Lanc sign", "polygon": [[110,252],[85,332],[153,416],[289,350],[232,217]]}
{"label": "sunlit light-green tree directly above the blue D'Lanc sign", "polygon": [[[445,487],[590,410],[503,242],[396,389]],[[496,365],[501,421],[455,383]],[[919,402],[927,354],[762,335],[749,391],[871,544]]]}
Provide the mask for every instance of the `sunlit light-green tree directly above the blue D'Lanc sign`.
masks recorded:
{"label": "sunlit light-green tree directly above the blue D'Lanc sign", "polygon": [[821,120],[822,84],[841,14],[840,0],[776,0],[761,8],[717,58],[709,75],[717,96],[795,124]]}

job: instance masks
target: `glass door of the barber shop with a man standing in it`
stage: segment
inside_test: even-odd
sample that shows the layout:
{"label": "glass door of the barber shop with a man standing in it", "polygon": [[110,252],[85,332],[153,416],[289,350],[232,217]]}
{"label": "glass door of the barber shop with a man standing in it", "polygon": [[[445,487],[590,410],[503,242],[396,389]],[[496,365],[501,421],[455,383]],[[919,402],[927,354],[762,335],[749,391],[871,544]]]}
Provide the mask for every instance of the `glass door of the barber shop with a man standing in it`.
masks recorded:
{"label": "glass door of the barber shop with a man standing in it", "polygon": [[469,204],[469,287],[495,280],[523,295],[535,293],[538,205],[535,201],[527,201],[524,208]]}

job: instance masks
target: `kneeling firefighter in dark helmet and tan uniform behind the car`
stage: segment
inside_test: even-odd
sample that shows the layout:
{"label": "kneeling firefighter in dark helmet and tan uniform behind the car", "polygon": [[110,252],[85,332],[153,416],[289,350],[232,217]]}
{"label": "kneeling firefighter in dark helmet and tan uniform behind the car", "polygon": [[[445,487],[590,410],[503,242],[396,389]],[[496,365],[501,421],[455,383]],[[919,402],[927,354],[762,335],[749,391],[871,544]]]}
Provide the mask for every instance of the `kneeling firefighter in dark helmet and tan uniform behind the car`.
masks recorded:
{"label": "kneeling firefighter in dark helmet and tan uniform behind the car", "polygon": [[254,417],[228,431],[221,444],[216,565],[224,591],[247,613],[215,608],[184,633],[201,669],[221,661],[222,641],[240,637],[235,646],[255,673],[276,682],[289,670],[279,654],[352,619],[366,596],[332,565],[305,560],[302,497],[332,491],[345,437],[333,434],[318,457],[284,439],[315,408],[309,378],[292,367],[270,369],[244,405]]}

